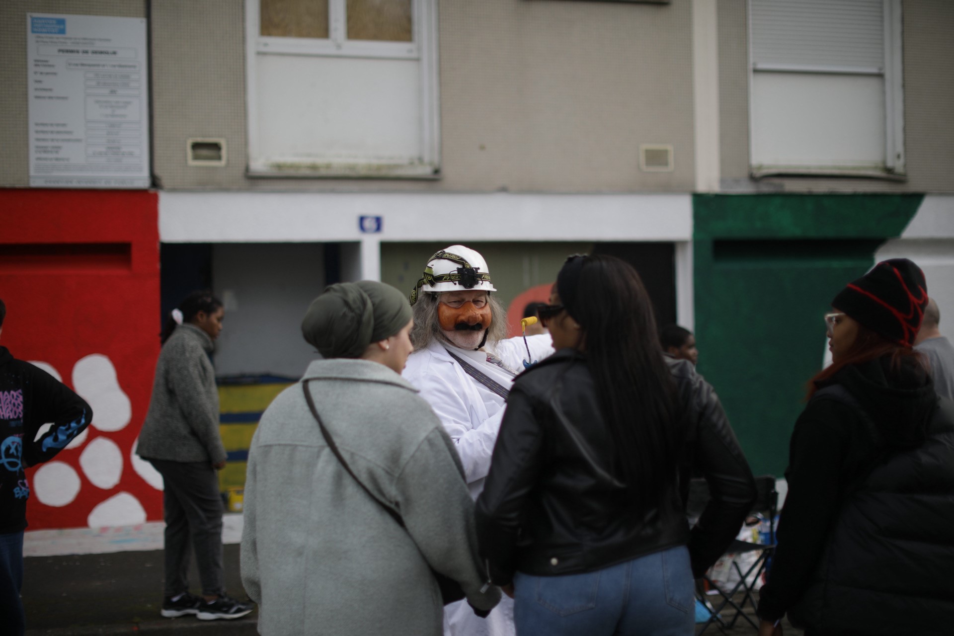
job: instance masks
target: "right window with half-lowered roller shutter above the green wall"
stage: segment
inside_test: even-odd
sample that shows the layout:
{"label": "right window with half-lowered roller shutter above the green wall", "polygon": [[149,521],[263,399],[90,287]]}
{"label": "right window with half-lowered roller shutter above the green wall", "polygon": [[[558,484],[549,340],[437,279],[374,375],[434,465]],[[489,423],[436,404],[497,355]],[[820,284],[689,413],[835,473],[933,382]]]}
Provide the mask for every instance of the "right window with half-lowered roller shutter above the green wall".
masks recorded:
{"label": "right window with half-lowered roller shutter above the green wall", "polygon": [[901,0],[750,0],[752,173],[904,174]]}

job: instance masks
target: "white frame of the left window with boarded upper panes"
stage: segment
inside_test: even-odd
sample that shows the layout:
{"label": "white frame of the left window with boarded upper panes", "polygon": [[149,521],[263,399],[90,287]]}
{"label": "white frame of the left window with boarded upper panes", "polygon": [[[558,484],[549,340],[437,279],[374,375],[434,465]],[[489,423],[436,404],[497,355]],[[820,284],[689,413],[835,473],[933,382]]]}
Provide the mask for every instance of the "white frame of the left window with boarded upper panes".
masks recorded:
{"label": "white frame of the left window with boarded upper panes", "polygon": [[[262,36],[260,0],[245,0],[245,116],[248,134],[246,175],[249,177],[305,178],[440,178],[440,87],[438,72],[437,0],[411,0],[411,41],[379,42],[346,37],[347,0],[328,0],[328,37]],[[420,77],[421,162],[365,171],[373,162],[340,163],[309,171],[279,171],[259,161],[256,68],[259,55],[299,55],[395,60],[418,60]],[[302,164],[308,162],[302,161]]]}

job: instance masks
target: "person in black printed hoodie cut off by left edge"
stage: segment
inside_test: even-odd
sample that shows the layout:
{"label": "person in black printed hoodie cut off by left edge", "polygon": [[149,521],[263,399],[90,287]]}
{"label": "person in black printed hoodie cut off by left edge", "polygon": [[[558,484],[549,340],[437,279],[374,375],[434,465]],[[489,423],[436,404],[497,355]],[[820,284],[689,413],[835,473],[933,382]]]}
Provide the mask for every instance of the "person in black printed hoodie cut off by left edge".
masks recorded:
{"label": "person in black printed hoodie cut off by left edge", "polygon": [[[7,306],[0,299],[0,334]],[[0,626],[24,633],[23,529],[30,484],[24,468],[48,462],[90,421],[93,409],[63,383],[0,347]],[[39,438],[40,427],[52,426]]]}

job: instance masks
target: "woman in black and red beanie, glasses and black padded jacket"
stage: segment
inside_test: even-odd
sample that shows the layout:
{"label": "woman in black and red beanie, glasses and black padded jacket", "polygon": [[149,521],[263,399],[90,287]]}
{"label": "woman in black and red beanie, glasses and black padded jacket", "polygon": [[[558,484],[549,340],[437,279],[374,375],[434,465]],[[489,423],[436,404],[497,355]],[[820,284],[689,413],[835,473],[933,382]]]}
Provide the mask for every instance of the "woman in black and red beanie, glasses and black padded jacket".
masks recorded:
{"label": "woman in black and red beanie, glasses and black padded jacket", "polygon": [[912,344],[927,304],[906,258],[849,283],[826,315],[832,364],[789,452],[761,636],[946,634],[954,616],[954,404]]}

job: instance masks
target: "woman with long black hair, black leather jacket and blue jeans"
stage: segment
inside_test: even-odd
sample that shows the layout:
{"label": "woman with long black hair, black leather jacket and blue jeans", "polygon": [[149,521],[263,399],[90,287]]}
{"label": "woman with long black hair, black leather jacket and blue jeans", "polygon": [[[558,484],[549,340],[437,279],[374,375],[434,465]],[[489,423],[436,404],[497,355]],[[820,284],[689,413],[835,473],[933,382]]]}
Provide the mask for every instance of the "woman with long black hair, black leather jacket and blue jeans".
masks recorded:
{"label": "woman with long black hair, black leather jacket and blue jeans", "polygon": [[[478,538],[520,636],[691,634],[693,578],[755,498],[712,387],[666,359],[632,266],[570,256],[538,310],[557,352],[514,382]],[[689,473],[713,499],[690,531]]]}

